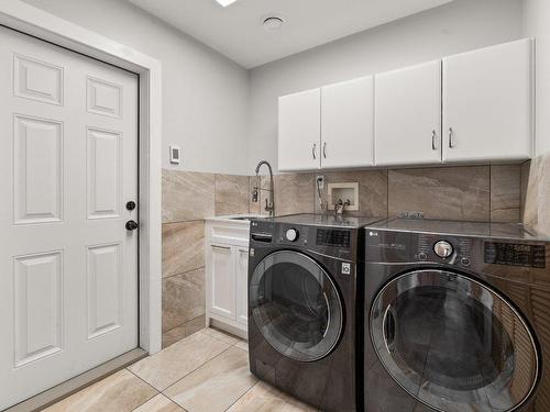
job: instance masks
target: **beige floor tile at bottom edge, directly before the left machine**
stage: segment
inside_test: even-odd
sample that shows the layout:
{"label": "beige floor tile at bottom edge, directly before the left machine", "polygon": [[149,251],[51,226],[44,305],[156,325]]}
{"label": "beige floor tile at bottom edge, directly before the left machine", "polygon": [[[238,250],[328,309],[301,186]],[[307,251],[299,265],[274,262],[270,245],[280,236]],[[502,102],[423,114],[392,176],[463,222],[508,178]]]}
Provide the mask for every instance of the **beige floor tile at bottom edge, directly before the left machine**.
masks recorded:
{"label": "beige floor tile at bottom edge, directly before the left machine", "polygon": [[237,401],[228,412],[316,412],[265,382],[258,382]]}

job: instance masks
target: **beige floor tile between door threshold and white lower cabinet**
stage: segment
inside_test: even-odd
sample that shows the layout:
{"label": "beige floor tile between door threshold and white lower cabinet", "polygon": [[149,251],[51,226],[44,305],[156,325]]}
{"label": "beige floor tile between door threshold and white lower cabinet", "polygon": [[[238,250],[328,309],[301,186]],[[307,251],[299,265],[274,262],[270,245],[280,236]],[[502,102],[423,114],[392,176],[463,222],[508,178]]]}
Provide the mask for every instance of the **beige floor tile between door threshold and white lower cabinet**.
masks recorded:
{"label": "beige floor tile between door threshold and white lower cabinet", "polygon": [[129,369],[163,391],[231,345],[197,332],[166,349],[132,365]]}

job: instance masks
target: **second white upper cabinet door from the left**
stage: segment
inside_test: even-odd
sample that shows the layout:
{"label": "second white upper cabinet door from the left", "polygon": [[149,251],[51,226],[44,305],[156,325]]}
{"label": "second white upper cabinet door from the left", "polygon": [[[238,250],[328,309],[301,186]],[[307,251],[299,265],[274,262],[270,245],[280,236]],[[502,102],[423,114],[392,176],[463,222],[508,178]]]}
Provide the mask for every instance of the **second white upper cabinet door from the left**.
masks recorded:
{"label": "second white upper cabinet door from the left", "polygon": [[374,80],[364,77],[321,89],[321,166],[373,165]]}

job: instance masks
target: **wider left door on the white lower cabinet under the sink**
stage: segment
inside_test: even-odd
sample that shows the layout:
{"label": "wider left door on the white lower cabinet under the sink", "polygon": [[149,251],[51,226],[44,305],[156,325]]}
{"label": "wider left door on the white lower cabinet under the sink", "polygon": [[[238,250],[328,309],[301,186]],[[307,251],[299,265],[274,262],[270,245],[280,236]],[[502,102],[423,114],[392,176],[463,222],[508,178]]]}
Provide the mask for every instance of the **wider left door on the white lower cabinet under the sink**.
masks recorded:
{"label": "wider left door on the white lower cabinet under the sink", "polygon": [[231,246],[210,245],[210,310],[235,319],[235,271]]}

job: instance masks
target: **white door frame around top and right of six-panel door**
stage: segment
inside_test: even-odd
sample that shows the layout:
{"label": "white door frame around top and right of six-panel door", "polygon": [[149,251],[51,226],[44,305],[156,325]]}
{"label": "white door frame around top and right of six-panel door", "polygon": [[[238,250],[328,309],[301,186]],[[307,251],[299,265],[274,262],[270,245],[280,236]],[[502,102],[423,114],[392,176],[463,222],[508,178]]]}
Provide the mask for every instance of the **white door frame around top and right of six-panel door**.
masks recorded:
{"label": "white door frame around top and right of six-panel door", "polygon": [[162,347],[161,62],[21,0],[0,5],[0,24],[139,75],[139,346]]}

